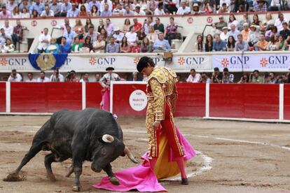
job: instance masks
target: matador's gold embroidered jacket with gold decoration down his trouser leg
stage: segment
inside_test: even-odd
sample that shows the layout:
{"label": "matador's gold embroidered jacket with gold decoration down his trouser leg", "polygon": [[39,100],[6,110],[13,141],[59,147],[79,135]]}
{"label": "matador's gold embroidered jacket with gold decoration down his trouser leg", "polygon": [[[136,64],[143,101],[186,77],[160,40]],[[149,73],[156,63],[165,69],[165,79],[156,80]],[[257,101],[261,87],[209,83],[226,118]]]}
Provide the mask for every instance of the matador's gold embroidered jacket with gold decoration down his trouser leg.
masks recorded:
{"label": "matador's gold embroidered jacket with gold decoration down his trouser leg", "polygon": [[149,136],[149,152],[156,155],[156,132],[153,129],[153,122],[165,118],[166,102],[170,104],[170,115],[173,121],[175,103],[177,101],[177,75],[166,67],[156,66],[149,76],[146,87],[148,107],[146,112],[146,127]]}

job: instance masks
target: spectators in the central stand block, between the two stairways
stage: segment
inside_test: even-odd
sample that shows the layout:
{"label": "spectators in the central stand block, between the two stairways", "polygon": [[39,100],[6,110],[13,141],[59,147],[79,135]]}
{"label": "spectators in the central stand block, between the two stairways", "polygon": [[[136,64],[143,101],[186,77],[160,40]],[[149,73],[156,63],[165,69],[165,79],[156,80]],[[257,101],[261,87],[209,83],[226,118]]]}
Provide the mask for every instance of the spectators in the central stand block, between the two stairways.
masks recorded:
{"label": "spectators in the central stand block, between the two stairways", "polygon": [[160,22],[159,17],[153,22],[151,16],[143,24],[137,18],[133,18],[132,22],[126,18],[123,27],[112,24],[109,18],[105,22],[99,19],[97,27],[90,18],[86,19],[85,24],[80,19],[71,24],[65,18],[60,25],[62,36],[52,38],[48,28],[43,29],[37,50],[39,53],[170,52],[174,46],[171,40],[180,38],[177,27],[173,17],[170,17],[167,27]]}

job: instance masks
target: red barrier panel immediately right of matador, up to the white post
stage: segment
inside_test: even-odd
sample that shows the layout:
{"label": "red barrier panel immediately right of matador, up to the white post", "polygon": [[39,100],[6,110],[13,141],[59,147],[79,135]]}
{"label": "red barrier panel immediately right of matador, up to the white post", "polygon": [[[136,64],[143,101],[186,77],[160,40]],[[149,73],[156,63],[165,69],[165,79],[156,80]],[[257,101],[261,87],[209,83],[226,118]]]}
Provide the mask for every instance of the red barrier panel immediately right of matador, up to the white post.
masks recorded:
{"label": "red barrier panel immediately right of matador, up to the white post", "polygon": [[175,116],[205,117],[205,84],[177,83]]}

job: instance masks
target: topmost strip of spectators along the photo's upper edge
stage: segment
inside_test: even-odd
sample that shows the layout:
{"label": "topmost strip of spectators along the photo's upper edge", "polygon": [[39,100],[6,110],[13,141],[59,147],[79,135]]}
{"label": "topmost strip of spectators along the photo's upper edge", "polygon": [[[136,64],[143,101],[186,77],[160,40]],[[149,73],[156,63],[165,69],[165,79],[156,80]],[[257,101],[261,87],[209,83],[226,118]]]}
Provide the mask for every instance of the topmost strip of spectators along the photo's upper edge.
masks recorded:
{"label": "topmost strip of spectators along the photo's upper edge", "polygon": [[[6,2],[5,2],[6,1]],[[4,0],[0,18],[185,15],[289,10],[289,0]]]}

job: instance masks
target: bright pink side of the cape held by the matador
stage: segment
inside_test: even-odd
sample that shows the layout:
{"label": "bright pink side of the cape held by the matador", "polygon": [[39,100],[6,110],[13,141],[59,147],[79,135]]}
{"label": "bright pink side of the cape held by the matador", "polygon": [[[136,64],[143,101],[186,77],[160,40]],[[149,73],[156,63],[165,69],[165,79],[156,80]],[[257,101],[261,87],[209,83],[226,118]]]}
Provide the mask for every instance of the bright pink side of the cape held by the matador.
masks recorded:
{"label": "bright pink side of the cape held by the matador", "polygon": [[[177,134],[179,136],[179,139],[181,141],[181,144],[184,147],[185,157],[184,161],[188,161],[192,157],[195,156],[195,150],[191,146],[191,144],[186,140],[186,138],[180,134],[179,129],[177,128]],[[167,139],[165,140],[165,146],[168,145]],[[163,147],[165,147],[163,146]],[[166,165],[166,164],[172,164],[170,162],[174,161],[172,150],[169,150],[167,154],[163,154],[162,151],[166,151],[170,148],[161,148],[160,147],[160,156],[168,155],[168,159],[162,159],[162,157],[158,157],[158,163],[156,163],[156,167],[158,165]],[[145,153],[142,157],[144,159],[144,162],[139,165],[135,166],[129,169],[125,169],[123,171],[118,171],[115,173],[116,178],[118,178],[120,185],[113,185],[109,181],[109,177],[102,178],[100,183],[97,183],[95,185],[92,185],[92,187],[105,189],[105,190],[111,190],[111,191],[118,191],[118,192],[127,192],[129,190],[138,190],[139,192],[161,192],[161,191],[167,191],[160,183],[158,183],[158,178],[156,173],[151,170],[150,167],[150,159],[147,156],[147,153]],[[161,159],[161,160],[159,160]],[[165,161],[163,161],[165,160]],[[167,163],[165,163],[167,162]],[[171,167],[169,167],[172,169]],[[167,167],[168,169],[168,167]],[[158,170],[155,169],[156,172]],[[159,170],[160,171],[160,170]],[[170,172],[169,172],[170,173]],[[167,174],[167,178],[176,175],[177,173]],[[166,175],[166,174],[165,174]],[[171,176],[170,176],[171,175]],[[159,176],[163,176],[159,175]]]}

